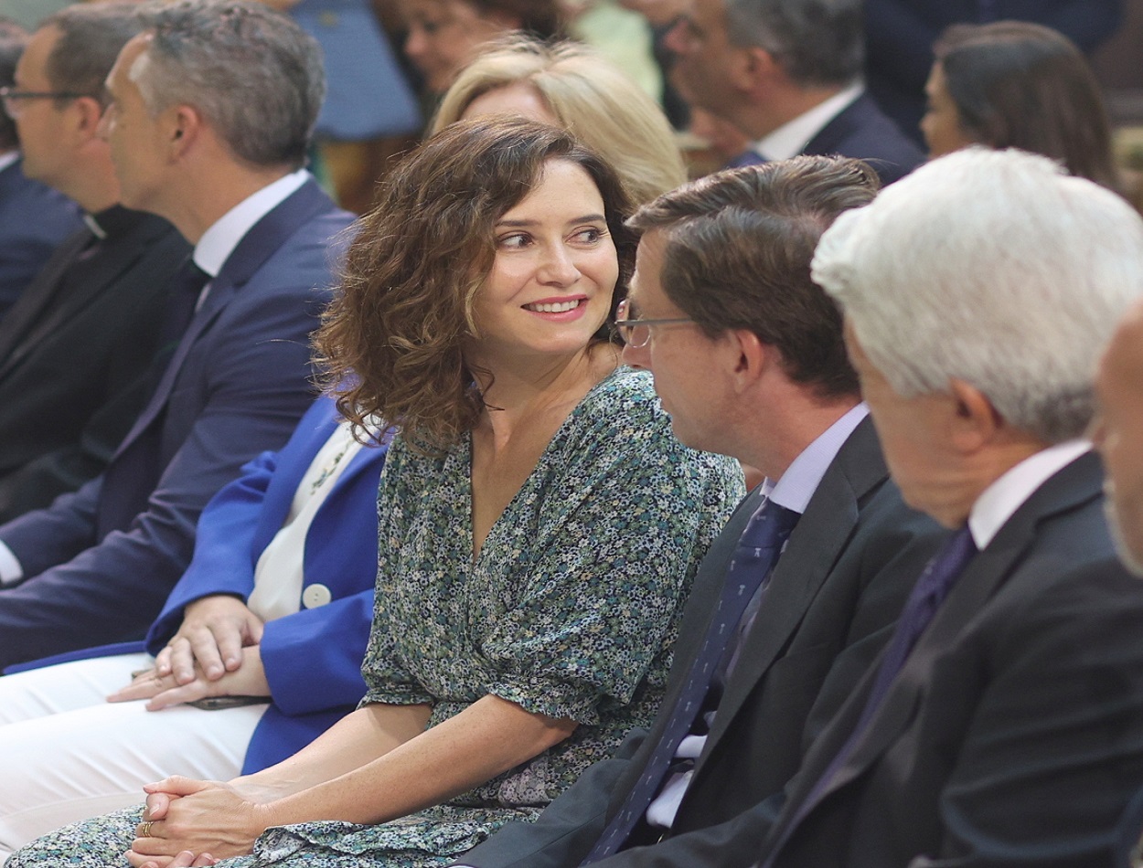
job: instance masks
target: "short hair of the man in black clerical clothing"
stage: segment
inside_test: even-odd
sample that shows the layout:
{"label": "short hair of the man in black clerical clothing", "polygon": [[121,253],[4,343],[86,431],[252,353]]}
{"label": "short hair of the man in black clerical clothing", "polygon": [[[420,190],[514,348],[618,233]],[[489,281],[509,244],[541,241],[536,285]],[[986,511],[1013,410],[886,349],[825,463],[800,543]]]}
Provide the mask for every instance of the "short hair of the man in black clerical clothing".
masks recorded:
{"label": "short hair of the man in black clerical clothing", "polygon": [[147,26],[147,7],[134,2],[77,3],[49,15],[40,30],[59,32],[43,72],[51,87],[106,104],[103,82],[125,45]]}

